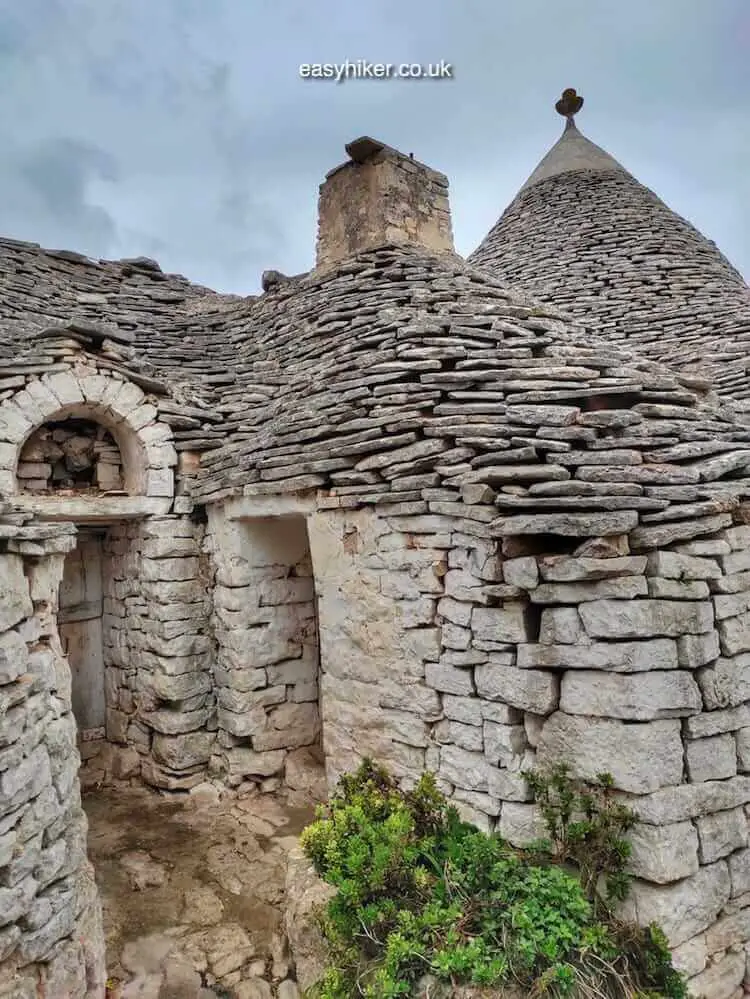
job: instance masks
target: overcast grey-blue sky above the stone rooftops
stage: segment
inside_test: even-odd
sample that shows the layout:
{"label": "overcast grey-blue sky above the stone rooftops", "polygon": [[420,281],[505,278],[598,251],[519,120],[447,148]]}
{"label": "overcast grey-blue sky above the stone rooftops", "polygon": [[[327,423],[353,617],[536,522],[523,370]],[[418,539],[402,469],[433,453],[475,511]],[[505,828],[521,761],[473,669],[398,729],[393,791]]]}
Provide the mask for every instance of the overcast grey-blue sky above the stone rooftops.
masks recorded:
{"label": "overcast grey-blue sky above the stone rooftops", "polygon": [[[303,80],[300,63],[452,63]],[[750,0],[0,0],[0,231],[222,291],[313,262],[318,184],[373,135],[479,242],[562,126],[750,274]]]}

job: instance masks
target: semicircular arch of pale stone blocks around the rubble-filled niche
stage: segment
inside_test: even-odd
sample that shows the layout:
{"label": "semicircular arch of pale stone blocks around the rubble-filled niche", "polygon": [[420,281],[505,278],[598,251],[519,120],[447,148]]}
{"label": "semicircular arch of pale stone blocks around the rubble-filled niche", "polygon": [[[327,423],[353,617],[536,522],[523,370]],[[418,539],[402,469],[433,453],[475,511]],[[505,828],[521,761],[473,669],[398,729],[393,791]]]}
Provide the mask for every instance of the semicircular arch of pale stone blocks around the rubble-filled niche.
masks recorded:
{"label": "semicircular arch of pale stone blocks around the rubble-filled niche", "polygon": [[[145,393],[114,375],[72,370],[30,380],[0,406],[0,494],[28,493],[24,480],[29,478],[41,487],[41,473],[47,470],[38,469],[36,479],[24,475],[29,458],[39,453],[45,440],[61,443],[54,440],[55,431],[59,437],[68,429],[73,437],[92,436],[99,454],[107,459],[102,464],[110,466],[103,487],[92,491],[159,499],[173,496],[177,454],[172,432],[158,421],[157,409]],[[84,448],[84,443],[77,446]],[[54,493],[55,489],[40,488],[37,494],[41,491]],[[75,484],[72,491],[77,491]]]}

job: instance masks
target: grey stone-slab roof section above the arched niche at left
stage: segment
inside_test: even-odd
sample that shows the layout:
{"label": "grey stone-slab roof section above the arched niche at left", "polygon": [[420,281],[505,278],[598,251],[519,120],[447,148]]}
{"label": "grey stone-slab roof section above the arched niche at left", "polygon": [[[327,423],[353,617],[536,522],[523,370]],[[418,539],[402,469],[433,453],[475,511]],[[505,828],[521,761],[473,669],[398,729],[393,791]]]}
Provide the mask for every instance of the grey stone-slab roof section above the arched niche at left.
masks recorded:
{"label": "grey stone-slab roof section above the arched niche at left", "polygon": [[0,239],[0,400],[19,379],[88,354],[157,397],[178,447],[216,447],[215,405],[235,377],[227,317],[252,301],[145,257],[97,261]]}

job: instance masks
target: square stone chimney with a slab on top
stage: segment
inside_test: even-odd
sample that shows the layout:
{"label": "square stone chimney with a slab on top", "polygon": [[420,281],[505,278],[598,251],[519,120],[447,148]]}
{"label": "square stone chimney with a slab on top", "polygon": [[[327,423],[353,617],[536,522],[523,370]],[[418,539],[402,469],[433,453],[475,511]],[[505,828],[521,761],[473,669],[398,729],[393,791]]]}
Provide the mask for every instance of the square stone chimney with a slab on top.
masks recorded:
{"label": "square stone chimney with a slab on top", "polygon": [[444,174],[367,137],[346,151],[320,186],[316,268],[393,243],[455,252]]}

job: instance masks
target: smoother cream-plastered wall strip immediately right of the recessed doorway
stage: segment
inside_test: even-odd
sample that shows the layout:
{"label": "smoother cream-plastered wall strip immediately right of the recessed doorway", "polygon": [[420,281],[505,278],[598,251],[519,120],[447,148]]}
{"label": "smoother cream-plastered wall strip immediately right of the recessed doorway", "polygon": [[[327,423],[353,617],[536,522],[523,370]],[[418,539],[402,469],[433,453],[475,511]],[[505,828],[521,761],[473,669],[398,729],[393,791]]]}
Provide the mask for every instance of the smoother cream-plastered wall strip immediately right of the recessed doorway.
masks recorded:
{"label": "smoother cream-plastered wall strip immediately right of the recessed doorway", "polygon": [[426,664],[441,655],[435,612],[450,535],[407,536],[367,510],[321,511],[309,531],[329,782],[367,755],[413,781],[440,717]]}

